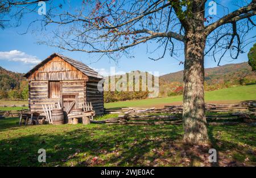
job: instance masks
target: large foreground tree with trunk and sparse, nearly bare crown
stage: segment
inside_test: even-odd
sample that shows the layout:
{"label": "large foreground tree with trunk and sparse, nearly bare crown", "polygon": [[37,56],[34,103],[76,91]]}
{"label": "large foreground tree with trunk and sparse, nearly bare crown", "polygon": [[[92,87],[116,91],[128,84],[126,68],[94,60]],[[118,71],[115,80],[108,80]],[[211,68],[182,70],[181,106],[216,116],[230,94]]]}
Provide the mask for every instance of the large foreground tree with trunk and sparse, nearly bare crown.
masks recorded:
{"label": "large foreground tree with trunk and sparse, nearly bare crown", "polygon": [[[214,2],[212,2],[214,5]],[[148,49],[180,58],[184,53],[184,141],[207,142],[204,104],[204,56],[218,63],[229,52],[236,59],[250,41],[246,34],[255,27],[256,2],[237,1],[237,9],[205,15],[206,0],[106,0],[81,1],[73,10],[48,11],[42,25],[48,39],[41,43],[69,51],[98,53],[113,60],[147,44]],[[72,6],[72,5],[71,5]],[[238,7],[239,6],[239,7]],[[220,8],[223,6],[219,6]],[[49,29],[53,29],[49,33]]]}

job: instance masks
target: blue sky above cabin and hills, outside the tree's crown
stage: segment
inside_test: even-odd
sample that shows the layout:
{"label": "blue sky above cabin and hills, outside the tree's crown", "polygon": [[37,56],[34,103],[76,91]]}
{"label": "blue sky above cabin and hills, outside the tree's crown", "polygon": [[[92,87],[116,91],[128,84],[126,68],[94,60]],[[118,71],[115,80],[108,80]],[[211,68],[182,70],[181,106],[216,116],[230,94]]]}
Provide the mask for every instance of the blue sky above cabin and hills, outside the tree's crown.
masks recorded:
{"label": "blue sky above cabin and hills, outside the tree's crown", "polygon": [[[217,2],[221,3],[221,5],[229,6],[230,11],[237,9],[236,6],[232,6],[231,0]],[[209,1],[207,4],[208,3]],[[217,8],[217,14],[221,13],[221,8]],[[110,71],[110,67],[112,66],[116,67],[116,71],[159,71],[159,75],[180,71],[183,70],[184,67],[183,65],[179,65],[179,61],[177,61],[177,59],[170,57],[168,54],[166,54],[166,56],[159,61],[152,61],[148,59],[151,54],[146,53],[146,45],[138,45],[135,47],[133,50],[134,58],[122,57],[119,59],[118,63],[115,63],[108,57],[104,57],[100,61],[94,63],[97,61],[97,56],[95,54],[67,52],[58,48],[49,47],[47,45],[36,44],[39,39],[44,38],[44,36],[40,35],[40,33],[32,33],[29,31],[25,35],[19,35],[19,33],[26,31],[27,24],[30,22],[31,18],[31,16],[25,16],[22,26],[20,27],[5,28],[3,30],[0,29],[0,66],[7,70],[26,73],[40,60],[44,60],[44,58],[55,52],[82,61],[93,69],[101,71],[104,74],[108,73],[108,71]],[[249,36],[254,35],[256,35],[255,32],[251,32],[249,34]],[[253,46],[253,44],[248,45],[245,48],[246,53],[240,54],[237,60],[232,61],[229,56],[226,56],[222,60],[221,65],[225,65],[226,63],[240,63],[247,61],[247,52],[251,46]],[[10,53],[10,51],[13,52]],[[159,56],[162,54],[160,52],[158,53]],[[155,56],[158,56],[158,53],[156,53]],[[184,61],[184,57],[180,56],[179,60]],[[205,57],[205,67],[208,68],[216,66],[217,63],[214,62],[211,57]]]}

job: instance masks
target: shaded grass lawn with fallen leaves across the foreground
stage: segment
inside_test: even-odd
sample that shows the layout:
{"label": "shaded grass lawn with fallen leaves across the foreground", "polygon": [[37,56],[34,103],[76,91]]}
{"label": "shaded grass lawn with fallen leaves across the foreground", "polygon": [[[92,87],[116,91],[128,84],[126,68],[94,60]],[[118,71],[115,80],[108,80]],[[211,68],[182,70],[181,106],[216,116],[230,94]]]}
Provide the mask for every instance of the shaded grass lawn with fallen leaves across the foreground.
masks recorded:
{"label": "shaded grass lawn with fallen leaves across the foreground", "polygon": [[[209,126],[210,146],[183,145],[182,125],[32,125],[0,120],[0,166],[256,166],[256,127]],[[218,162],[208,162],[208,150]],[[38,162],[46,149],[47,163]]]}

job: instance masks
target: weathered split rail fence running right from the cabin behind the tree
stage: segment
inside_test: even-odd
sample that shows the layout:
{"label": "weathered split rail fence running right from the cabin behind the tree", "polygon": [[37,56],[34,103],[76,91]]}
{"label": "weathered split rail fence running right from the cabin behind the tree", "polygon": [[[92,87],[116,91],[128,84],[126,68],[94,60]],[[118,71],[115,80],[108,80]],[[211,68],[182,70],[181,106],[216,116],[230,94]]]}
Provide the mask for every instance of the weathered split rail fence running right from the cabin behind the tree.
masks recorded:
{"label": "weathered split rail fence running right from the cabin behind the tree", "polygon": [[[207,116],[209,125],[238,125],[256,122],[256,101],[240,104],[206,104],[205,109],[212,112]],[[105,124],[159,125],[182,124],[182,105],[155,108],[121,108],[106,109],[106,113],[119,113],[117,118],[100,121]],[[160,115],[159,115],[160,113]],[[165,115],[161,115],[164,113]],[[214,114],[216,113],[216,114]],[[220,114],[221,113],[221,114]],[[166,115],[167,114],[167,115]],[[170,115],[168,115],[170,114]]]}

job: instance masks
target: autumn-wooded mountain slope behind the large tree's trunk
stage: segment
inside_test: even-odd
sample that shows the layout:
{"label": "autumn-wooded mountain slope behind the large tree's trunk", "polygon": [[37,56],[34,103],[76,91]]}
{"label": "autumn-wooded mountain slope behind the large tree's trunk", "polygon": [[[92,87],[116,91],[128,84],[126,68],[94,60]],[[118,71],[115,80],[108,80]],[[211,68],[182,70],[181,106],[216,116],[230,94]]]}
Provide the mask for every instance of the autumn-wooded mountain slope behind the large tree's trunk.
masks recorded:
{"label": "autumn-wooded mountain slope behind the large tree's trunk", "polygon": [[[160,93],[168,95],[170,86],[179,87],[183,84],[183,70],[159,77]],[[256,83],[256,73],[251,71],[247,62],[232,63],[205,69],[205,90],[217,90],[225,87]],[[168,88],[166,90],[166,88]]]}

